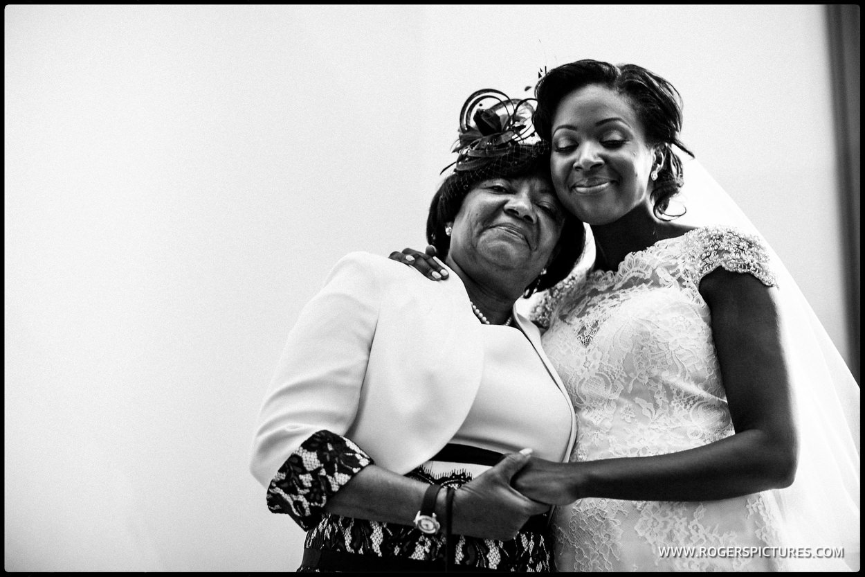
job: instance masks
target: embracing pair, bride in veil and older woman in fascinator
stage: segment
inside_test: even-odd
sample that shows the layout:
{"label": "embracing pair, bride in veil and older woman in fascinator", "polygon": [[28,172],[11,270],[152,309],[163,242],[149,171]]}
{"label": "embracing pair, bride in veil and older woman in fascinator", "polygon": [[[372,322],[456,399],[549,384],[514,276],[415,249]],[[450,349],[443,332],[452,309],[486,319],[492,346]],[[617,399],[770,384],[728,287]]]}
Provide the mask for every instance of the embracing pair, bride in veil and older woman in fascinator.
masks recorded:
{"label": "embracing pair, bride in veil and older woman in fascinator", "polygon": [[858,569],[858,386],[746,218],[676,221],[729,204],[681,110],[593,60],[465,102],[431,246],[336,263],[261,407],[299,571]]}

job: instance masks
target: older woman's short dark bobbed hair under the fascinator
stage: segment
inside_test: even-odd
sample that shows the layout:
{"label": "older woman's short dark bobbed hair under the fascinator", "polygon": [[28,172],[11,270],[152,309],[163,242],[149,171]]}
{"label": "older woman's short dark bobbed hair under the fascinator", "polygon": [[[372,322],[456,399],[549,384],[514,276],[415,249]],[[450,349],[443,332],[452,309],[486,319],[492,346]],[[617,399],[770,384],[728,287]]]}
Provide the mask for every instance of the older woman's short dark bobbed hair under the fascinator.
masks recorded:
{"label": "older woman's short dark bobbed hair under the fascinator", "polygon": [[[517,178],[541,176],[550,179],[549,145],[538,141],[534,144],[515,144],[506,154],[476,170],[453,172],[439,186],[432,197],[429,215],[426,218],[426,240],[434,246],[440,257],[447,256],[451,248],[451,237],[445,234],[445,226],[457,217],[463,200],[477,183],[488,178]],[[577,263],[586,243],[586,230],[582,222],[570,213],[565,213],[565,224],[553,261],[546,274],[537,283],[526,288],[529,296],[535,290],[553,287],[564,279]]]}

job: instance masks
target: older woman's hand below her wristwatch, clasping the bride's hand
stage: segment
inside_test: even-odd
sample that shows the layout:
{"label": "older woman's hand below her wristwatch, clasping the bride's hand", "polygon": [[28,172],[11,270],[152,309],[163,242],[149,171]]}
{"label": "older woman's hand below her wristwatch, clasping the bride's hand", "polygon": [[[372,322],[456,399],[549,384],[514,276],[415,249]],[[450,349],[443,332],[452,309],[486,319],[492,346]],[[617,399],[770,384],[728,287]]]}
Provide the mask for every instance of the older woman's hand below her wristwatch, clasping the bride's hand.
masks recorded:
{"label": "older woman's hand below her wristwatch, clasping the bride's hand", "polygon": [[511,477],[528,460],[527,454],[512,453],[458,489],[453,502],[453,532],[509,541],[530,516],[547,511],[549,505],[520,495],[510,484]]}

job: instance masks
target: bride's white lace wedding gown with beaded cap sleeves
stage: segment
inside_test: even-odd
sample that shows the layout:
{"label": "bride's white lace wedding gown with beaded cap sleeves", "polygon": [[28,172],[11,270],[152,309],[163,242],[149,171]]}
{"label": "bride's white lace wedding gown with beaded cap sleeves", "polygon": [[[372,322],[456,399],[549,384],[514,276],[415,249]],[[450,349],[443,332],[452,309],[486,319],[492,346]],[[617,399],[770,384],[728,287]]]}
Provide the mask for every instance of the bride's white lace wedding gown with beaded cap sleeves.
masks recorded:
{"label": "bride's white lace wedding gown with beaded cap sleeves", "polygon": [[[578,419],[572,460],[683,451],[734,434],[703,276],[723,267],[775,284],[756,237],[691,230],[631,253],[616,271],[574,275],[534,310]],[[562,571],[742,570],[778,559],[663,557],[665,546],[777,544],[761,494],[714,502],[582,499],[559,508]]]}

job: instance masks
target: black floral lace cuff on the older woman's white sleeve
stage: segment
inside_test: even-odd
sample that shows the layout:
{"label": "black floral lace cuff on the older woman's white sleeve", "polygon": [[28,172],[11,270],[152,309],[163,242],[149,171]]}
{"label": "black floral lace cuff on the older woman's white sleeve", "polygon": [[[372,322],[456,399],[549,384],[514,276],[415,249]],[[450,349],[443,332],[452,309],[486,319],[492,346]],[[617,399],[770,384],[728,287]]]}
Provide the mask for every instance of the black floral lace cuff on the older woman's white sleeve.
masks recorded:
{"label": "black floral lace cuff on the older woman's white sleeve", "polygon": [[286,513],[304,531],[321,521],[324,505],[373,460],[356,444],[317,431],[285,461],[267,488],[267,508]]}

